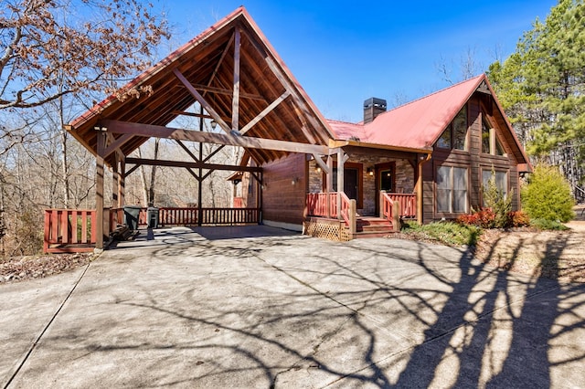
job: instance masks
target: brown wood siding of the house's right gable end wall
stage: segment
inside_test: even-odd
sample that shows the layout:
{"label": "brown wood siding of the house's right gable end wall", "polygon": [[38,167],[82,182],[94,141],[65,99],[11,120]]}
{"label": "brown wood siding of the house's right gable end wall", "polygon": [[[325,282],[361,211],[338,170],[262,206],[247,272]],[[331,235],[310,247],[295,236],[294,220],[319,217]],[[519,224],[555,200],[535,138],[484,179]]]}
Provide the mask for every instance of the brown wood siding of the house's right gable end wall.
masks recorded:
{"label": "brown wood siding of the house's right gable end wall", "polygon": [[[423,221],[429,223],[433,220],[454,218],[456,214],[438,214],[435,210],[436,185],[435,174],[437,167],[447,164],[468,168],[468,205],[471,208],[479,209],[482,187],[482,171],[495,170],[508,173],[508,190],[513,191],[512,209],[520,209],[519,200],[519,177],[516,158],[512,153],[509,142],[513,137],[508,134],[504,118],[497,112],[495,104],[491,102],[491,96],[476,92],[467,102],[468,126],[467,133],[468,150],[443,150],[437,149],[432,152],[432,159],[425,163],[422,169],[423,175]],[[482,152],[482,115],[487,115],[489,121],[495,124],[495,131],[498,139],[505,148],[506,155],[492,155]]]}

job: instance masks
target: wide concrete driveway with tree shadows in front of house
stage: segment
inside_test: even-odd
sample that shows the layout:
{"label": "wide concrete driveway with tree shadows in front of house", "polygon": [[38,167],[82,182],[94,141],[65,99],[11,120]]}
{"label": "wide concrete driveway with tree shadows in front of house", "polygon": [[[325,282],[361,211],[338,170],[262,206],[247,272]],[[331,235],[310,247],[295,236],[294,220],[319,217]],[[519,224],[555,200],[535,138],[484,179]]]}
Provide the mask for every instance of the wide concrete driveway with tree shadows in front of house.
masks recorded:
{"label": "wide concrete driveway with tree shadows in front of house", "polygon": [[0,295],[3,387],[585,387],[583,285],[419,242],[160,229]]}

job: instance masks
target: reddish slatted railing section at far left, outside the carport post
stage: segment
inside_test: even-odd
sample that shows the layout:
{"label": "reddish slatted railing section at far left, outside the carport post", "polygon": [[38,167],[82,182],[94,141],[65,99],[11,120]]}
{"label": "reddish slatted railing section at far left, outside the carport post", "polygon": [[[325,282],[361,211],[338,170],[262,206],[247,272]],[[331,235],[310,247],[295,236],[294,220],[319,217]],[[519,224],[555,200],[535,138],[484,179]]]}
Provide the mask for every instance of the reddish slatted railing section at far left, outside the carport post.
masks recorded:
{"label": "reddish slatted railing section at far left, outside the carport post", "polygon": [[93,209],[45,210],[45,253],[93,251],[96,242]]}

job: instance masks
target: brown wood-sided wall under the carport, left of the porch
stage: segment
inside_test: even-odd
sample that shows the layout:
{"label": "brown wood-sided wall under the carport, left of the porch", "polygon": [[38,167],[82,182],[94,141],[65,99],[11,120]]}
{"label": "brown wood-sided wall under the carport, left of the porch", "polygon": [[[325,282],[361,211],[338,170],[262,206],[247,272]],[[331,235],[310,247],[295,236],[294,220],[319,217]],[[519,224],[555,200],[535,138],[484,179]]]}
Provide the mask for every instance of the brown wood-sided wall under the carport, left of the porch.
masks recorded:
{"label": "brown wood-sided wall under the carport, left of the porch", "polygon": [[262,167],[262,219],[302,226],[307,191],[305,154],[291,154]]}

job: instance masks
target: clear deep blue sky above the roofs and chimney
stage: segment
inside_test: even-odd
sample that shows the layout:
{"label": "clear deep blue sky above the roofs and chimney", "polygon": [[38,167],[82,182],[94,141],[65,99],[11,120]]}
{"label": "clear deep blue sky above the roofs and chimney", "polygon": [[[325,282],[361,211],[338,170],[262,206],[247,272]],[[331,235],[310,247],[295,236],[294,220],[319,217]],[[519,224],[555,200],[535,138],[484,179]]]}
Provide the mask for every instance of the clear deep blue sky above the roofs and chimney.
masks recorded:
{"label": "clear deep blue sky above the roofs and chimney", "polygon": [[325,117],[360,121],[369,97],[388,107],[450,85],[438,70],[473,54],[475,73],[507,58],[556,0],[178,0],[165,5],[173,48],[244,5]]}

